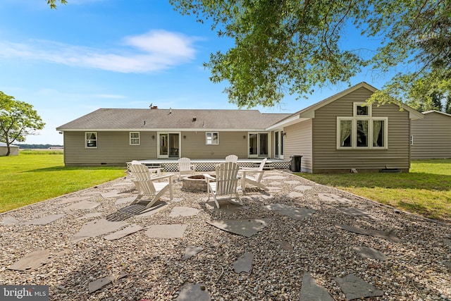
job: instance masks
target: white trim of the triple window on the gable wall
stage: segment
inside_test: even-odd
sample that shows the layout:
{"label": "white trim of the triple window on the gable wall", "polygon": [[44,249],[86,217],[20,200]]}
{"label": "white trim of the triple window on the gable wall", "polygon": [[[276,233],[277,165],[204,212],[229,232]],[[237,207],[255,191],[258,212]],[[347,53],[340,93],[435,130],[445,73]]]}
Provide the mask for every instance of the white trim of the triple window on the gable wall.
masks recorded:
{"label": "white trim of the triple window on the gable wall", "polygon": [[[354,106],[355,107],[355,106]],[[340,121],[352,121],[351,125],[351,146],[350,147],[342,147],[340,145]],[[357,147],[357,121],[368,121],[368,146],[366,147]],[[373,121],[383,121],[384,122],[384,146],[383,147],[374,147],[373,146]],[[337,149],[388,149],[388,117],[368,117],[368,116],[338,116],[337,117]]]}

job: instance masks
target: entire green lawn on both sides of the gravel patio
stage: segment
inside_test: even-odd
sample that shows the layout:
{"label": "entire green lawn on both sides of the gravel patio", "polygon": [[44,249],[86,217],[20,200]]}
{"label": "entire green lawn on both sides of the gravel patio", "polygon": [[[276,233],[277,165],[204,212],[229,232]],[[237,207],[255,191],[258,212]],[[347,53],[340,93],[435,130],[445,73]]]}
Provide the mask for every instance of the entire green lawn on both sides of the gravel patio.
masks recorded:
{"label": "entire green lawn on both sides of the gravel patio", "polygon": [[[64,167],[61,152],[0,157],[0,212],[125,176],[125,167]],[[376,202],[451,222],[451,159],[412,161],[410,173],[299,174]]]}

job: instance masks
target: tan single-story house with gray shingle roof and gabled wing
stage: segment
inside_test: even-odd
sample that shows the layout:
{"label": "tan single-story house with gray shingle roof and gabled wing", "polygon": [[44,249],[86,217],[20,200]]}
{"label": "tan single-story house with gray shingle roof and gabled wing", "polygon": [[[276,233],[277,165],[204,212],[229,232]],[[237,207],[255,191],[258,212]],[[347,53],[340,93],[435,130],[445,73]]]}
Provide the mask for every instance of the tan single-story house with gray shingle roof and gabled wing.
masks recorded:
{"label": "tan single-story house with gray shingle roof and gabled wing", "polygon": [[66,166],[125,165],[132,160],[302,156],[304,172],[409,171],[409,106],[366,106],[366,82],[296,113],[257,110],[98,109],[56,130]]}

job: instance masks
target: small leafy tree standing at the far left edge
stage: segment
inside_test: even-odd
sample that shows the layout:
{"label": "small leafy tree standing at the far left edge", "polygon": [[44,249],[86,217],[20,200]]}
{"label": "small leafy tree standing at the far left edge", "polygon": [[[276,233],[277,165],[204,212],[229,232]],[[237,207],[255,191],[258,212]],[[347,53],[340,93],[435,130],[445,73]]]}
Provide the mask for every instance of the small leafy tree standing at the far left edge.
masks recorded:
{"label": "small leafy tree standing at the far left edge", "polygon": [[14,141],[23,142],[25,136],[36,135],[45,123],[31,104],[20,102],[0,91],[0,141],[6,143],[6,156],[11,154]]}

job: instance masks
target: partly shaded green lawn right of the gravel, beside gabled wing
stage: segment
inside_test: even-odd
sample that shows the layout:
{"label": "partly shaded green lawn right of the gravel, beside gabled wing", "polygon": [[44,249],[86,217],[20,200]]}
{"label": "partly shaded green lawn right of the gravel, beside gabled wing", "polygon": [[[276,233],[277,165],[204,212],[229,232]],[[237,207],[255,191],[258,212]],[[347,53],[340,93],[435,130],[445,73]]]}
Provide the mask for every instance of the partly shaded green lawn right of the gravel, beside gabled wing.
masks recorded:
{"label": "partly shaded green lawn right of the gravel, beside gabled wing", "polygon": [[410,173],[299,176],[429,219],[451,222],[451,159],[414,160]]}

